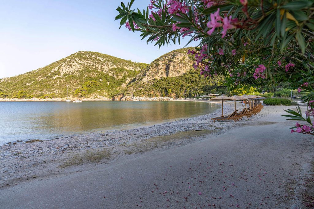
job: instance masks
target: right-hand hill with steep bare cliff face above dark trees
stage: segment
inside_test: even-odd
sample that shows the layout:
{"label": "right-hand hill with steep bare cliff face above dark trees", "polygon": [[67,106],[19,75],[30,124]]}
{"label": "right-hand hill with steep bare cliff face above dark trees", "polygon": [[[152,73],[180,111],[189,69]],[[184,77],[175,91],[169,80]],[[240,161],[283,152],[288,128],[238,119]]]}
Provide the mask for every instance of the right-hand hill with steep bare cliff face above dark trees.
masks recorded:
{"label": "right-hand hill with steep bare cliff face above dark trees", "polygon": [[222,77],[204,78],[193,69],[194,56],[187,54],[189,49],[194,48],[173,50],[154,60],[136,76],[123,95],[186,98],[225,92]]}

